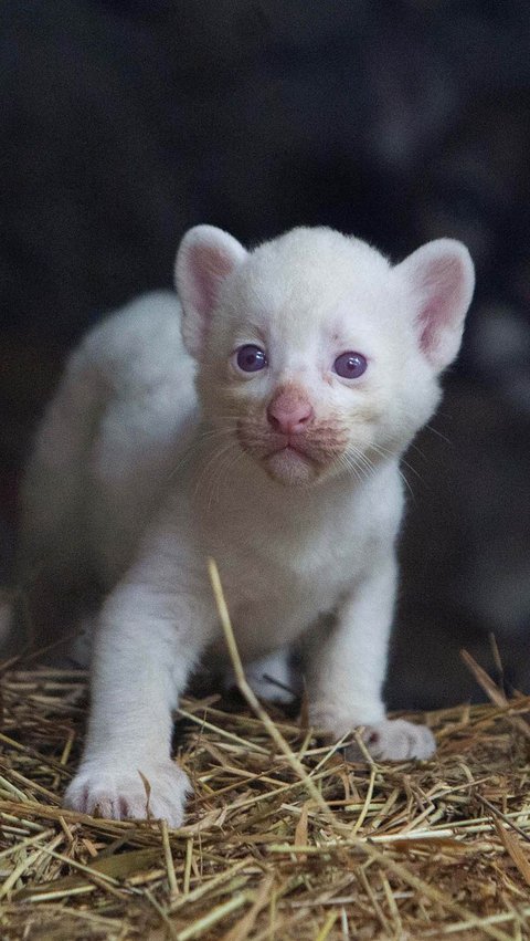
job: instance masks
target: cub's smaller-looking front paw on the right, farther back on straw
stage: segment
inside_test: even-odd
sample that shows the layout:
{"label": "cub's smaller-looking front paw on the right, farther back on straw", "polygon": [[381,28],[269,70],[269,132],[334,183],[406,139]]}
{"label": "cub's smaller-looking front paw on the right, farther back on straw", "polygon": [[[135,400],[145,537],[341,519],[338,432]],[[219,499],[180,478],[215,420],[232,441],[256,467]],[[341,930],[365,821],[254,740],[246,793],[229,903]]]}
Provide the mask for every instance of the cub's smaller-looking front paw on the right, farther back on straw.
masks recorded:
{"label": "cub's smaller-looking front paw on the right, farther back on straw", "polygon": [[406,722],[405,719],[384,719],[374,725],[367,725],[362,739],[370,754],[380,761],[430,759],[436,751],[431,729]]}

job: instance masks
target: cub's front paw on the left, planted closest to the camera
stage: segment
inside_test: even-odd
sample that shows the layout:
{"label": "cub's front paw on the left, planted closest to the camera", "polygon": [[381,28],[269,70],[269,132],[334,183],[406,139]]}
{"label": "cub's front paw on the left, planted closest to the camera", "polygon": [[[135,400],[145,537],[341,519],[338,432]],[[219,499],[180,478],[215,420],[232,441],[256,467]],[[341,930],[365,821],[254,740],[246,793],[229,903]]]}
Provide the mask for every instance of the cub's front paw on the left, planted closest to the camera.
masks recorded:
{"label": "cub's front paw on the left, planted closest to the camera", "polygon": [[170,827],[180,827],[190,792],[188,776],[169,759],[159,764],[139,763],[138,769],[92,760],[80,767],[64,805],[114,820],[165,818]]}

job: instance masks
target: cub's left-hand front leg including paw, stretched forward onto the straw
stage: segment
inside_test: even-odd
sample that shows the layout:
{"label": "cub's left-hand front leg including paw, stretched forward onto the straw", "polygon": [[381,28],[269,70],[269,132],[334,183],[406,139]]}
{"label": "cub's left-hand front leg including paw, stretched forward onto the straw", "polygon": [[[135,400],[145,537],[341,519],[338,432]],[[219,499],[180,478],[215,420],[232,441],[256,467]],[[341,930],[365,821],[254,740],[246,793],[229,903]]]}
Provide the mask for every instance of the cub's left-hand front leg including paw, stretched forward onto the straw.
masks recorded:
{"label": "cub's left-hand front leg including paw, stretched forward onto the straw", "polygon": [[170,756],[171,713],[212,626],[212,613],[193,597],[145,577],[129,577],[109,596],[94,642],[87,740],[67,807],[181,825],[190,787]]}

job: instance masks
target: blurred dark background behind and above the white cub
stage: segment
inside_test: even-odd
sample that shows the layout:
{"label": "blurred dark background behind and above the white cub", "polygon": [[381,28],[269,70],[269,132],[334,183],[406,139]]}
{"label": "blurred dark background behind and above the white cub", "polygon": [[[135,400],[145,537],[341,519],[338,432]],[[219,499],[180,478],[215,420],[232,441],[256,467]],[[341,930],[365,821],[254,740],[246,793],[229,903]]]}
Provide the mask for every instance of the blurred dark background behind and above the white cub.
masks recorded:
{"label": "blurred dark background behind and above the white cub", "polygon": [[[407,457],[394,707],[530,692],[528,0],[0,2],[0,569],[62,357],[197,222],[463,239],[464,349]],[[499,678],[499,677],[498,677]]]}

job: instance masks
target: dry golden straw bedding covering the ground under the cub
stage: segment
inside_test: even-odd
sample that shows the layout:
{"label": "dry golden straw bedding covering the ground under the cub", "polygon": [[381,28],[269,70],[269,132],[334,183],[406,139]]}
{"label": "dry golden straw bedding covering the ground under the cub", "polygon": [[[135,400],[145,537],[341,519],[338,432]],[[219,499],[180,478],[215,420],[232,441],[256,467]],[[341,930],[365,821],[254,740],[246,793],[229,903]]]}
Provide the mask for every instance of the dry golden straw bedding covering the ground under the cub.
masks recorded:
{"label": "dry golden straw bedding covering the ground under the cub", "polygon": [[438,752],[420,764],[348,762],[244,699],[184,700],[180,830],[64,811],[86,676],[4,672],[0,938],[530,938],[530,698],[469,666],[492,702],[426,715]]}

